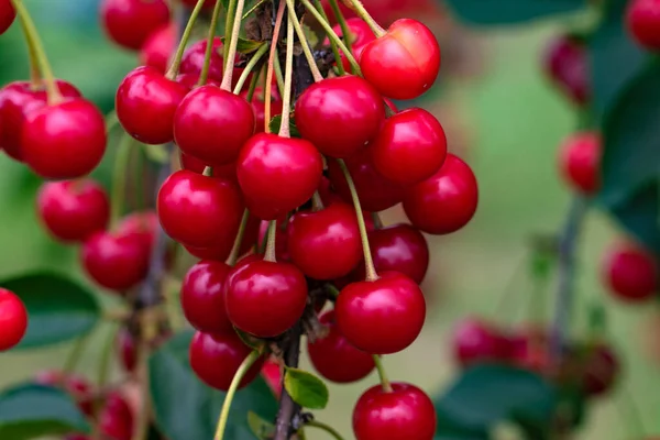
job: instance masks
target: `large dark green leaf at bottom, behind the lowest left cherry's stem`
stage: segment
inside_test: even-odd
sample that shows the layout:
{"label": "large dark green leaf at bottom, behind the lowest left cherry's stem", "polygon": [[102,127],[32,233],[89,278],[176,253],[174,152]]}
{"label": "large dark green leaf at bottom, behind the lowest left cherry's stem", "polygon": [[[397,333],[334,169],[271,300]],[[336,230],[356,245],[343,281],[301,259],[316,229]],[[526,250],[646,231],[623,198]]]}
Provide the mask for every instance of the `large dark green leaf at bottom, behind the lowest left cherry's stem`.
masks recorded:
{"label": "large dark green leaf at bottom, behind the lowest left cherry's stem", "polygon": [[[168,440],[212,439],[224,393],[204,385],[188,363],[191,331],[176,334],[148,360],[150,389],[156,425]],[[224,440],[254,436],[248,422],[253,411],[274,420],[277,403],[268,385],[257,377],[233,398]]]}

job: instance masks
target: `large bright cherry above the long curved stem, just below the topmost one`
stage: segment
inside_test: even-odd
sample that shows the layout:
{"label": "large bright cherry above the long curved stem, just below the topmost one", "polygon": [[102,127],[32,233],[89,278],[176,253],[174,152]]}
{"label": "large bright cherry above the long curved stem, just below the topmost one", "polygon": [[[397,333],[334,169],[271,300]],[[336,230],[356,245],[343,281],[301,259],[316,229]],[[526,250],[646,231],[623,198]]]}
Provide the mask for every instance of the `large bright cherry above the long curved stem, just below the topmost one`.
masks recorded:
{"label": "large bright cherry above the long curved stem, just below the topmost one", "polygon": [[302,138],[331,157],[349,157],[378,134],[383,98],[364,79],[346,75],[314,84],[296,101]]}

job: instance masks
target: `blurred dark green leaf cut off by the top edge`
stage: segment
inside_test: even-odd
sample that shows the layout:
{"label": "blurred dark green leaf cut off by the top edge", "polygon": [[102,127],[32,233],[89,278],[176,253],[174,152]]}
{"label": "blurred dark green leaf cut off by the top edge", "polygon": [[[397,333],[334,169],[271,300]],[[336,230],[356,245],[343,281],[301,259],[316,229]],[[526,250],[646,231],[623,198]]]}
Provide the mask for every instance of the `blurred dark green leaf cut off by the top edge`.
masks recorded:
{"label": "blurred dark green leaf cut off by the top edge", "polygon": [[515,24],[580,11],[586,0],[447,0],[462,21],[474,24]]}

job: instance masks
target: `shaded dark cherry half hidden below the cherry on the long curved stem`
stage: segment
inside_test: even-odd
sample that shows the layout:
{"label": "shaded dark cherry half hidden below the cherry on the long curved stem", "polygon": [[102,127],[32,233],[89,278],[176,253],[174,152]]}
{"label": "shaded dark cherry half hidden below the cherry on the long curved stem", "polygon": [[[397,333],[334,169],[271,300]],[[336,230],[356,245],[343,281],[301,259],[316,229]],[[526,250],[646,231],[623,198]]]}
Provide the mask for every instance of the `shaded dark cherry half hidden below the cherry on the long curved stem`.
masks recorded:
{"label": "shaded dark cherry half hidden below the cherry on the long curved stem", "polygon": [[328,327],[328,334],[314,343],[307,343],[314,367],[328,381],[339,384],[366,377],[376,366],[373,356],[351,345],[339,332],[334,311],[324,312],[319,320]]}

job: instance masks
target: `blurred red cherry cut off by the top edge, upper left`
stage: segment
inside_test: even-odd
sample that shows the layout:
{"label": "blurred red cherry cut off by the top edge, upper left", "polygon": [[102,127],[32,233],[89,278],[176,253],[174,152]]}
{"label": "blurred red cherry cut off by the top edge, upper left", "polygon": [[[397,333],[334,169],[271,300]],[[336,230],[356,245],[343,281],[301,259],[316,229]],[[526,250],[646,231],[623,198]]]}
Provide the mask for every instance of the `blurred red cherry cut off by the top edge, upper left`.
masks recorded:
{"label": "blurred red cherry cut off by the top edge, upper left", "polygon": [[140,50],[146,38],[169,22],[165,0],[102,0],[101,22],[114,43]]}

